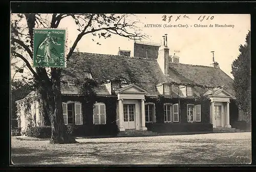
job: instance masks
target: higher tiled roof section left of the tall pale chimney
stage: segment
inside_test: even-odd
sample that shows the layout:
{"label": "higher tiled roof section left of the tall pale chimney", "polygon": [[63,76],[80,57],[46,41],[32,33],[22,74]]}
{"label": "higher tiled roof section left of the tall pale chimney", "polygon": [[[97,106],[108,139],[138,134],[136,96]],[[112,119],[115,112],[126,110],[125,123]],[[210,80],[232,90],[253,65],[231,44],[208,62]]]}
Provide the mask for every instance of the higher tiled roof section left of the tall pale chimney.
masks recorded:
{"label": "higher tiled roof section left of the tall pale chimney", "polygon": [[[156,85],[170,80],[163,75],[156,59],[74,52],[67,61],[67,68],[61,72],[61,93],[77,94],[77,88],[69,87],[63,81],[67,78],[82,79],[84,72],[90,72],[92,78],[100,83],[113,78],[125,78],[127,84],[135,83],[146,90],[148,96],[157,96]],[[96,93],[109,95],[104,84],[95,90]]]}

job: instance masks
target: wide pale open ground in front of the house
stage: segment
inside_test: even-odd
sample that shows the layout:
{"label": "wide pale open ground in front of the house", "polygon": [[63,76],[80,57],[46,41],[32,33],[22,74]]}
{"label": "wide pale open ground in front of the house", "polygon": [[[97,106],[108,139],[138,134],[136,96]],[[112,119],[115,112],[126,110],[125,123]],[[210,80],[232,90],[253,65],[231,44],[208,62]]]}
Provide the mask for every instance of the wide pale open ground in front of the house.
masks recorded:
{"label": "wide pale open ground in front of the house", "polygon": [[11,139],[13,164],[250,164],[251,133],[77,139]]}

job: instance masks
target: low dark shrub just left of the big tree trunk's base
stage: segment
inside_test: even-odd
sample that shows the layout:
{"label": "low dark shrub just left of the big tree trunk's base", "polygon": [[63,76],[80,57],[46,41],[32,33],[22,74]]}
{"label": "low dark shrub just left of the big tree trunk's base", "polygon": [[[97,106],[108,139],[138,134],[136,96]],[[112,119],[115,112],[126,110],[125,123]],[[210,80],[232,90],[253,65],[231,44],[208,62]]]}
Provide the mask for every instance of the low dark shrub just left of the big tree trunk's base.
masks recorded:
{"label": "low dark shrub just left of the big tree trunk's base", "polygon": [[51,126],[29,127],[25,135],[30,137],[36,137],[36,138],[51,138],[52,127]]}

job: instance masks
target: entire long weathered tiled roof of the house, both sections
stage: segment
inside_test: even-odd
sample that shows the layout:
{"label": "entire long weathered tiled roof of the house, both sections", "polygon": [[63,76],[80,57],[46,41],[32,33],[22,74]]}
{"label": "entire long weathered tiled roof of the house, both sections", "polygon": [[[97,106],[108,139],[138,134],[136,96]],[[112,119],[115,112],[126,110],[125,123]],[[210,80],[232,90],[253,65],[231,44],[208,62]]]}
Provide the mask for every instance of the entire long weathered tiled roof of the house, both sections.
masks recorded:
{"label": "entire long weathered tiled roof of the house, both sections", "polygon": [[[169,63],[169,76],[166,76],[156,59],[74,52],[61,73],[61,80],[83,78],[84,72],[90,72],[93,78],[102,82],[116,77],[125,78],[129,84],[135,83],[147,90],[148,96],[157,96],[156,85],[162,82],[194,85],[193,93],[198,96],[209,88],[225,85],[227,91],[234,95],[233,80],[221,69],[213,67]],[[104,84],[95,91],[99,95],[110,94]],[[177,96],[177,91],[173,91]],[[62,82],[61,93],[77,94],[77,89]]]}

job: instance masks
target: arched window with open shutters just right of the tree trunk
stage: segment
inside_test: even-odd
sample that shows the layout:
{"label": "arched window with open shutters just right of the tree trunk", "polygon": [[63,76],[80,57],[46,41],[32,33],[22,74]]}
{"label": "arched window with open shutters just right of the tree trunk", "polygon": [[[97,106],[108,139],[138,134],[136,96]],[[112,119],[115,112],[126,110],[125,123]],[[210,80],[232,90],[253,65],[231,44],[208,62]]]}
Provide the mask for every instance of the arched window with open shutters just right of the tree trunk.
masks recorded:
{"label": "arched window with open shutters just right of the tree trunk", "polygon": [[62,102],[64,124],[82,125],[82,104],[80,102]]}

